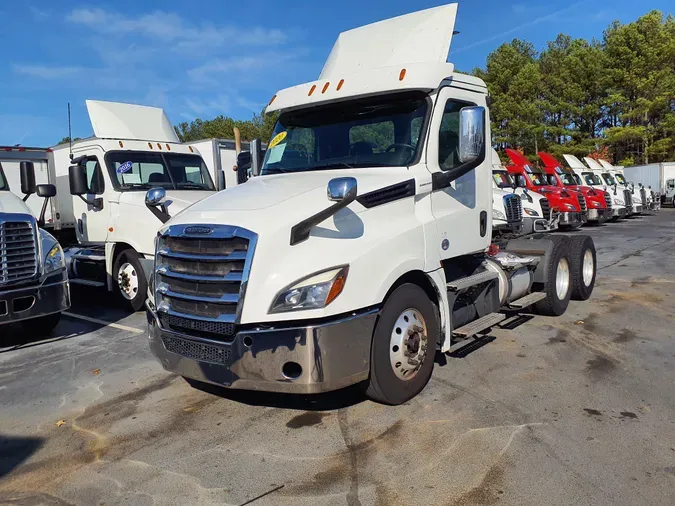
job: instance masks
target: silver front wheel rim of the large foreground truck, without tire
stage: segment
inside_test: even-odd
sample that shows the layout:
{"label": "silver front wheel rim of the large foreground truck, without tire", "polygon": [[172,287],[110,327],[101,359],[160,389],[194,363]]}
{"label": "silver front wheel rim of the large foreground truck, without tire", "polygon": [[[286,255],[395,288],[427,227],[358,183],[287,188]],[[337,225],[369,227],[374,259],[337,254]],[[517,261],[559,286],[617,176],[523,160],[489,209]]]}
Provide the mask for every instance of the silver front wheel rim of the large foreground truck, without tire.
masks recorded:
{"label": "silver front wheel rim of the large foreground truck, without tire", "polygon": [[429,334],[427,324],[417,309],[403,311],[391,329],[389,362],[396,377],[412,380],[419,373],[427,356]]}

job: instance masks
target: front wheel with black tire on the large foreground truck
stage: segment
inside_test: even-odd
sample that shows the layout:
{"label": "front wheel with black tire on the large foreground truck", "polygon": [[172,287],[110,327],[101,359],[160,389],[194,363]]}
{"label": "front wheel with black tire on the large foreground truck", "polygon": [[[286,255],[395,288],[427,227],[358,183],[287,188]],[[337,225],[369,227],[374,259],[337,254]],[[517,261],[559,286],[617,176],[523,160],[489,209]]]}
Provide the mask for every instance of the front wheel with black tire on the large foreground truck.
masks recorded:
{"label": "front wheel with black tire on the large foreground truck", "polygon": [[440,329],[436,307],[419,286],[396,288],[378,318],[366,395],[398,405],[420,393],[431,378]]}

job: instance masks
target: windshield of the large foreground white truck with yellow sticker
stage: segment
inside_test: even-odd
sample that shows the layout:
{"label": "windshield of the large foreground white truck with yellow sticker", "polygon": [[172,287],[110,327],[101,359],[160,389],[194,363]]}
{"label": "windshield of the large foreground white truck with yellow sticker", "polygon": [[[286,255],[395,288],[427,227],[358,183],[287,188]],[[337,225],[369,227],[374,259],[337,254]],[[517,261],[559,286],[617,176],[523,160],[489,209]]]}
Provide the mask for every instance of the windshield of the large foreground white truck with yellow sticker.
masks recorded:
{"label": "windshield of the large foreground white truck with yellow sticker", "polygon": [[420,149],[428,108],[426,95],[415,92],[282,114],[262,175],[409,165]]}

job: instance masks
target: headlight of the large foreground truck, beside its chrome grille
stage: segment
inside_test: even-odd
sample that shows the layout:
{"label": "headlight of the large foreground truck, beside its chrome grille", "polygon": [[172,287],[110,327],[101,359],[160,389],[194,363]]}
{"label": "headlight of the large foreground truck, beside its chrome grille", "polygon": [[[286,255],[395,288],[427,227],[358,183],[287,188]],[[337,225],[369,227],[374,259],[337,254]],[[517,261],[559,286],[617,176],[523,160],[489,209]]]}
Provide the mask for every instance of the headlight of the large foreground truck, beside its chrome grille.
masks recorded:
{"label": "headlight of the large foreground truck, beside its chrome grille", "polygon": [[320,309],[333,302],[345,286],[348,266],[317,272],[284,288],[274,299],[270,313]]}

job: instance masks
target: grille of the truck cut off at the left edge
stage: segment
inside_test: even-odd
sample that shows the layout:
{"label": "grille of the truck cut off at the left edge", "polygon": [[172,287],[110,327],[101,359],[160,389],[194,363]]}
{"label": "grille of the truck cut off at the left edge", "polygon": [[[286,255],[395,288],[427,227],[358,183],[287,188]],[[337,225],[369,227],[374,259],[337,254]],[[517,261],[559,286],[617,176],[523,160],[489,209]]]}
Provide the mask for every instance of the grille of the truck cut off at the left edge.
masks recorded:
{"label": "grille of the truck cut off at the left edge", "polygon": [[4,221],[0,215],[0,284],[37,276],[37,228],[30,219]]}

